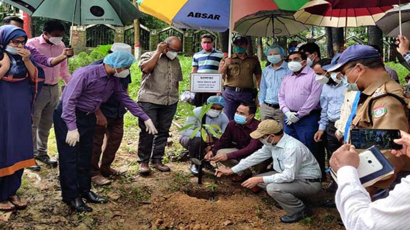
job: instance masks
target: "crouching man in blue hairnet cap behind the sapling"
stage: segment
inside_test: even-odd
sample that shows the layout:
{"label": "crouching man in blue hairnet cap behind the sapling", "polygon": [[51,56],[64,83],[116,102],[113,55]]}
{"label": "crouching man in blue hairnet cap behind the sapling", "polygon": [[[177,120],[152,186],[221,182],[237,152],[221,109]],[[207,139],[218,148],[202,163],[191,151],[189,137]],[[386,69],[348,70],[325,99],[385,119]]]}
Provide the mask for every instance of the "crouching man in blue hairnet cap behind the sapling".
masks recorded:
{"label": "crouching man in blue hairnet cap behind the sapling", "polygon": [[[222,112],[223,107],[225,107],[225,100],[221,96],[211,96],[207,100],[208,104],[212,103],[211,109],[207,111],[207,113],[204,115],[205,117],[205,122],[204,124],[207,125],[217,125],[221,128],[222,133],[225,131],[227,128],[227,125],[229,123],[228,117],[225,115],[225,113]],[[181,137],[179,139],[179,143],[189,151],[189,155],[191,158],[198,158],[199,156],[199,144],[201,142],[201,131],[198,130],[195,133],[195,137],[191,139],[191,136],[193,135],[192,133],[195,131],[196,128],[198,128],[201,123],[198,120],[199,114],[202,110],[201,107],[196,107],[194,109],[194,114],[195,117],[188,117],[187,121],[185,122],[186,125],[194,124],[193,127],[186,129],[181,132]],[[216,128],[212,128],[214,132],[217,132]],[[203,143],[203,149],[205,149],[206,145],[211,146],[215,142],[215,137],[212,134],[213,131],[208,131],[208,139],[207,143]],[[203,161],[202,165],[210,168],[209,162]],[[195,164],[191,164],[190,171],[194,175],[198,175],[198,166]]]}

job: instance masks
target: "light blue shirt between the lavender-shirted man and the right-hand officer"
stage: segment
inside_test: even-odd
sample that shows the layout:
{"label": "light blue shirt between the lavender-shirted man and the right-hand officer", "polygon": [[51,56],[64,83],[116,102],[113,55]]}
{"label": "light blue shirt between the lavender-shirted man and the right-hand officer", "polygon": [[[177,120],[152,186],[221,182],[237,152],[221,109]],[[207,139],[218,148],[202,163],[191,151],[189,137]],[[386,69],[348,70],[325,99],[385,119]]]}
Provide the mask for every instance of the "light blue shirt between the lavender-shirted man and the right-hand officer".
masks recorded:
{"label": "light blue shirt between the lavender-shirted man and the right-hand officer", "polygon": [[324,84],[320,94],[320,114],[319,130],[325,130],[329,121],[335,122],[340,118],[340,107],[343,104],[343,92],[346,89],[344,84],[328,85]]}

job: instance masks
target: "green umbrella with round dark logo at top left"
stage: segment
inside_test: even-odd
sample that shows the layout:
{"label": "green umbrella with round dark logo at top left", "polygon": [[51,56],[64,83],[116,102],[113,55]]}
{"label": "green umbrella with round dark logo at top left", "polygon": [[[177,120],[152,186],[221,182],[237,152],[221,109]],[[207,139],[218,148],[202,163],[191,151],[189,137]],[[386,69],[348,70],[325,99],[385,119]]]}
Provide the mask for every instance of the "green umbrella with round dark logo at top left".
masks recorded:
{"label": "green umbrella with round dark logo at top left", "polygon": [[[1,0],[32,17],[71,21],[76,25],[110,24],[124,27],[144,16],[129,0]],[[71,36],[70,36],[71,42]]]}

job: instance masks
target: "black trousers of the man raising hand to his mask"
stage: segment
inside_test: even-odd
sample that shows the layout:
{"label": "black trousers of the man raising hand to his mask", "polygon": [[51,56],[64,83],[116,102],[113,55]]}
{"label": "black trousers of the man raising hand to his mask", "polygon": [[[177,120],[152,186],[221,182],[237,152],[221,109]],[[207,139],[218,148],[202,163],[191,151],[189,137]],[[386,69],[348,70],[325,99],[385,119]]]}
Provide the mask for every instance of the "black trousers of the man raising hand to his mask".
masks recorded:
{"label": "black trousers of the man raising hand to his mask", "polygon": [[[144,120],[138,119],[141,129],[138,141],[138,162],[162,162],[169,131],[176,112],[177,103],[172,105],[158,105],[150,102],[138,102],[139,107],[151,118],[158,134],[155,136],[146,132]],[[152,155],[152,156],[151,156]]]}

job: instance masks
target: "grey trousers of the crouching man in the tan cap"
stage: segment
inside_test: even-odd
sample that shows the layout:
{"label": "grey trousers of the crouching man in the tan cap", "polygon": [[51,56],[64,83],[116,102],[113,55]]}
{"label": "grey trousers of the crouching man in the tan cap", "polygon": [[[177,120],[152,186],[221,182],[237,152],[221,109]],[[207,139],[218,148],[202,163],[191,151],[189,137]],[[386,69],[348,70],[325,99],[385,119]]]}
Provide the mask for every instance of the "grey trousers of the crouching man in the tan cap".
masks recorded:
{"label": "grey trousers of the crouching man in the tan cap", "polygon": [[[270,176],[277,172],[271,171],[256,176]],[[300,197],[317,194],[322,189],[320,182],[310,182],[305,179],[295,179],[290,183],[260,183],[260,188],[266,190],[280,206],[286,211],[286,215],[292,216],[304,209]]]}

